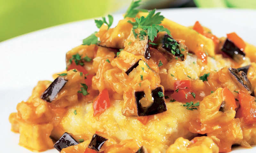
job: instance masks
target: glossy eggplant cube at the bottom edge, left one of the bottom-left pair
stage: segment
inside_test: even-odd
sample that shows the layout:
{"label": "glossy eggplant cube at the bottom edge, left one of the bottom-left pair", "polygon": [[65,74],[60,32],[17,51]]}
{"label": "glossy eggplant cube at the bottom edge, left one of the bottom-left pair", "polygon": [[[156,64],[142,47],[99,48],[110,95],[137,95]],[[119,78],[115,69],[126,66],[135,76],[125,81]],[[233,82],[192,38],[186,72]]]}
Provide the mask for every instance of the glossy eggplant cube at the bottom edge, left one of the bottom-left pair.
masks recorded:
{"label": "glossy eggplant cube at the bottom edge, left one of the bottom-left pair", "polygon": [[78,142],[67,132],[65,132],[60,139],[54,144],[54,148],[61,151],[63,148],[77,145]]}

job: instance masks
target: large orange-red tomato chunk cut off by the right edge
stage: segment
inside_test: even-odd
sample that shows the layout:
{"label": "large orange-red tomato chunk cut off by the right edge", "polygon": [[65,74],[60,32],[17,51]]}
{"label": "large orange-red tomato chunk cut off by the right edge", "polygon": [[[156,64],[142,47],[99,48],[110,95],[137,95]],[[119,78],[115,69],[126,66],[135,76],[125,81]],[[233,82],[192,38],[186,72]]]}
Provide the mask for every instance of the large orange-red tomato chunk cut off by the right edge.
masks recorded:
{"label": "large orange-red tomato chunk cut off by the right edge", "polygon": [[[239,92],[240,108],[237,117],[244,117],[245,123],[256,122],[256,104],[255,97]],[[239,116],[240,115],[240,116]]]}

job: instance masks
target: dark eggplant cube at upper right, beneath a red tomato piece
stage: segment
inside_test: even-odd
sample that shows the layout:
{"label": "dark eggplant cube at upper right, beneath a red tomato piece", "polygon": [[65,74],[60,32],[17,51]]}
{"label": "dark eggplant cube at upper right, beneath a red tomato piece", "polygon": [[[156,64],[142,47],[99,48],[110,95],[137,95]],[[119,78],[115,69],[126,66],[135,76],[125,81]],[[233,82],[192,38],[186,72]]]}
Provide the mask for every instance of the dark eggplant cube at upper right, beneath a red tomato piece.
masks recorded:
{"label": "dark eggplant cube at upper right, beneath a red tomato piece", "polygon": [[241,62],[245,59],[245,53],[229,39],[226,39],[221,50],[236,62]]}

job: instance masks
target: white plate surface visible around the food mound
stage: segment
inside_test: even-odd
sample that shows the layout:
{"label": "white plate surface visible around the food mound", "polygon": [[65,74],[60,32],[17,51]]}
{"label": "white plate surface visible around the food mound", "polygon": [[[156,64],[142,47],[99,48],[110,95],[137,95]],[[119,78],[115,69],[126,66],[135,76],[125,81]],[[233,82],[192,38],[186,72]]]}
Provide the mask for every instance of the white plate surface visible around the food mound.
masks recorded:
{"label": "white plate surface visible around the food mound", "polygon": [[[256,11],[234,9],[168,9],[162,14],[182,25],[193,25],[196,20],[218,37],[236,32],[245,41],[256,45]],[[114,23],[122,19],[114,15]],[[10,131],[9,114],[16,105],[30,96],[38,80],[52,80],[52,74],[66,68],[65,54],[97,31],[94,20],[84,20],[28,33],[0,43],[0,147],[1,152],[30,153],[20,147],[19,134]],[[233,152],[255,152],[253,149],[236,149]],[[46,151],[57,153],[55,149]]]}

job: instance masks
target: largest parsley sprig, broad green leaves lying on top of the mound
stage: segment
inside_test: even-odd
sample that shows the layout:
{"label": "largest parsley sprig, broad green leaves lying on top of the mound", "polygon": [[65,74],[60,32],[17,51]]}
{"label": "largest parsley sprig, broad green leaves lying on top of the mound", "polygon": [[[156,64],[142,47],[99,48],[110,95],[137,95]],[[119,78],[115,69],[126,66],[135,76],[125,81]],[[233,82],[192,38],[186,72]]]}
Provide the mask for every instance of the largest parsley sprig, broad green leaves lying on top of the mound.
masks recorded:
{"label": "largest parsley sprig, broad green leaves lying on top of the mound", "polygon": [[[163,25],[159,25],[163,21],[164,16],[160,15],[160,12],[157,12],[156,14],[155,14],[155,12],[156,12],[156,9],[151,10],[148,13],[148,16],[146,18],[143,16],[140,18],[136,17],[135,22],[132,22],[130,20],[127,22],[129,22],[133,25],[133,27],[132,27],[133,30],[137,29],[137,28],[142,28],[144,32],[145,32],[145,30],[147,30],[148,38],[151,41],[153,41],[155,39],[157,33],[161,32],[161,31],[165,31],[167,34],[171,35],[171,33],[168,29],[164,28]],[[136,34],[134,34],[134,36],[136,38]]]}

